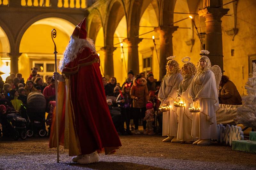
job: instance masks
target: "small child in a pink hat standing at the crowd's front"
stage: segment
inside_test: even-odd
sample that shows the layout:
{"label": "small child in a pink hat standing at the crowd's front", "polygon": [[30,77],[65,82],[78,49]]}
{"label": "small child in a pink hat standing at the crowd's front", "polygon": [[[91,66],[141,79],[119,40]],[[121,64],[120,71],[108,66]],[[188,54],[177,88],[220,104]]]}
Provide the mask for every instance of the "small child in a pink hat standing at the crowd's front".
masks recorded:
{"label": "small child in a pink hat standing at the crowd's front", "polygon": [[146,105],[146,113],[143,118],[144,121],[147,121],[146,131],[143,132],[145,135],[154,135],[153,122],[154,122],[154,108],[152,103],[147,103]]}

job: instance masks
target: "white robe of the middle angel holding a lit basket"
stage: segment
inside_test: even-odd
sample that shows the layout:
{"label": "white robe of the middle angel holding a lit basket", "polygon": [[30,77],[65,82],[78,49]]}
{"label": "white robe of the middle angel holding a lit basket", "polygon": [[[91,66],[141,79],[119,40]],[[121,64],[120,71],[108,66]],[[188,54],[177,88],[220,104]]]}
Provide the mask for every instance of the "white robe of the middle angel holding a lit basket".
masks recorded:
{"label": "white robe of the middle angel holding a lit basket", "polygon": [[177,95],[181,96],[180,102],[185,104],[185,107],[177,107],[177,115],[179,119],[177,140],[179,141],[196,141],[198,138],[191,136],[192,119],[193,115],[189,112],[192,99],[188,97],[189,85],[191,84],[194,76],[185,75],[182,82],[179,85]]}

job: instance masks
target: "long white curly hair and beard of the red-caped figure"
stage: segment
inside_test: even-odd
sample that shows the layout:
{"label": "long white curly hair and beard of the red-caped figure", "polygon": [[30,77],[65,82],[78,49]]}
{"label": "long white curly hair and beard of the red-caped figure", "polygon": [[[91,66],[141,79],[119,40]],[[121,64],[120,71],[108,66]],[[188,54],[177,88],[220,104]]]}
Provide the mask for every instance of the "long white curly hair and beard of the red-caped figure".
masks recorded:
{"label": "long white curly hair and beard of the red-caped figure", "polygon": [[74,61],[79,53],[81,53],[84,47],[89,47],[93,52],[96,53],[95,45],[90,38],[80,39],[73,35],[70,37],[69,44],[64,52],[64,57],[60,60],[59,69],[62,72],[65,66]]}

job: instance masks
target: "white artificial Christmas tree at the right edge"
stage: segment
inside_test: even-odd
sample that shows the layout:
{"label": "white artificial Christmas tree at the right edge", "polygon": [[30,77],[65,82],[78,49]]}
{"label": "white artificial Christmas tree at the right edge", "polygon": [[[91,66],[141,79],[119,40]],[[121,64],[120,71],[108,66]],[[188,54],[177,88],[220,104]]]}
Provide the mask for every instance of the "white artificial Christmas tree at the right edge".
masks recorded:
{"label": "white artificial Christmas tree at the right edge", "polygon": [[236,121],[256,129],[256,65],[252,63],[252,77],[245,84],[247,96],[242,97],[243,106],[237,108]]}

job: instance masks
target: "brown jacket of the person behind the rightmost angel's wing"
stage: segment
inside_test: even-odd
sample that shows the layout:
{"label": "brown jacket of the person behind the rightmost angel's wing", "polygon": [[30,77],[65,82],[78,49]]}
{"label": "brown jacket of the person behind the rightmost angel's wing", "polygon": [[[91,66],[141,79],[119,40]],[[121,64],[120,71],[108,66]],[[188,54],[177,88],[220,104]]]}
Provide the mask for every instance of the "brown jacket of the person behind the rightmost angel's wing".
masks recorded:
{"label": "brown jacket of the person behind the rightmost angel's wing", "polygon": [[236,85],[232,81],[228,81],[223,86],[220,86],[219,97],[222,104],[227,104],[227,105],[242,104],[242,98],[236,89]]}

